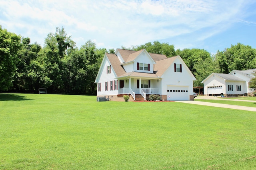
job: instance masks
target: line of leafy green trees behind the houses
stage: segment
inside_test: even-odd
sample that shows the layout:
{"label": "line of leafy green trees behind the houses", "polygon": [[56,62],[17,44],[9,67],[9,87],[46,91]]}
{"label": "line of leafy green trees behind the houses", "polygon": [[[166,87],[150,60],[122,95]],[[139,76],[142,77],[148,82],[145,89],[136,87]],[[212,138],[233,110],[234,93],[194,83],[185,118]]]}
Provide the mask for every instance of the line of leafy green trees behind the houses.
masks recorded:
{"label": "line of leafy green trees behind the houses", "polygon": [[[146,49],[148,53],[167,57],[180,55],[197,79],[194,86],[203,86],[202,80],[212,72],[256,68],[256,49],[241,43],[214,55],[204,49],[175,50],[174,45],[159,41],[121,48]],[[104,54],[114,52],[114,49],[97,49],[91,40],[78,48],[63,27],[49,33],[42,47],[0,25],[0,91],[37,92],[38,88],[47,88],[50,93],[95,95],[94,80]]]}

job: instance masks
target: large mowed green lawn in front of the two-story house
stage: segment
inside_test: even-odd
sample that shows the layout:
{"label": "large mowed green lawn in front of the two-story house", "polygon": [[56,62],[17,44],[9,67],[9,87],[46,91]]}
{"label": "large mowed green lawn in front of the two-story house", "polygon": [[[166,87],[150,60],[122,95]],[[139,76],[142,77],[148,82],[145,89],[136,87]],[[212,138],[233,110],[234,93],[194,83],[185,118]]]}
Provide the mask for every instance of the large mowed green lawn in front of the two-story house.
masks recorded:
{"label": "large mowed green lawn in front of the two-story house", "polygon": [[256,113],[0,94],[0,169],[256,169]]}

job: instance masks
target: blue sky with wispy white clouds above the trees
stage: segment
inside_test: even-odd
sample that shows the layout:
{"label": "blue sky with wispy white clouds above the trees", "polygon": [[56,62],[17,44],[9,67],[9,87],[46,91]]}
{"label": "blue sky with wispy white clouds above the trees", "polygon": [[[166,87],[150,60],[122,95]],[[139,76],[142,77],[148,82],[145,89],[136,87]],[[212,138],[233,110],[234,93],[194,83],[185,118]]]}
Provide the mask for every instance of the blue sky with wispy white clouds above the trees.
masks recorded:
{"label": "blue sky with wispy white clouds above the trees", "polygon": [[237,43],[256,48],[255,0],[0,0],[0,25],[44,46],[64,27],[80,47],[160,41],[212,54]]}

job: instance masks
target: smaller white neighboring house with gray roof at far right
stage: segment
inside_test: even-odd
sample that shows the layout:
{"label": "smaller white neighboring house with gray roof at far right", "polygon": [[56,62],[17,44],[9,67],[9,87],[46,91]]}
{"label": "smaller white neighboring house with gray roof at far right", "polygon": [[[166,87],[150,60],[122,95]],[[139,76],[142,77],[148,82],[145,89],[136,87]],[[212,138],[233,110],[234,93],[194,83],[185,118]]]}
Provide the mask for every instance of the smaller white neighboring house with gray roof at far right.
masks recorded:
{"label": "smaller white neighboring house with gray roof at far right", "polygon": [[233,70],[229,74],[212,73],[202,81],[204,95],[247,96],[254,92],[254,89],[249,88],[249,84],[255,71],[256,69]]}

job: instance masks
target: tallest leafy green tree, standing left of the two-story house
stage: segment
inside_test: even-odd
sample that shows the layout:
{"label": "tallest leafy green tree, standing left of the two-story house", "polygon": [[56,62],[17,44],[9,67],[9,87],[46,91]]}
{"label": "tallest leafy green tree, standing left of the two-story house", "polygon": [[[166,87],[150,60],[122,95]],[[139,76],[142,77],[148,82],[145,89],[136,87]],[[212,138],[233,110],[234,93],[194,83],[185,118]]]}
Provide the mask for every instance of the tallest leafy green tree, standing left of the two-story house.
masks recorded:
{"label": "tallest leafy green tree, standing left of the two-story house", "polygon": [[50,78],[50,90],[53,93],[66,93],[68,87],[68,70],[66,57],[75,49],[75,43],[66,35],[64,28],[56,28],[56,33],[49,33],[45,39],[40,63]]}

